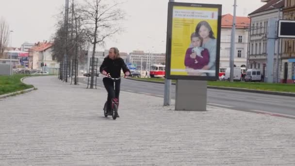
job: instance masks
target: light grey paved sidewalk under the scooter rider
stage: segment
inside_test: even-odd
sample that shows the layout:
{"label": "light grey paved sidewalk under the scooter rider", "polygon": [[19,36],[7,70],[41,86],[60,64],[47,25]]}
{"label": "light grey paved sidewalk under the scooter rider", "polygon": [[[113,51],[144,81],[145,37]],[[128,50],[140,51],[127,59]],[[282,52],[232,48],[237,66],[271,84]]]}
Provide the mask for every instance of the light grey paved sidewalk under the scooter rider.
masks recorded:
{"label": "light grey paved sidewalk under the scooter rider", "polygon": [[122,91],[113,120],[103,116],[104,89],[24,82],[38,90],[0,100],[0,166],[295,166],[294,119],[178,112]]}

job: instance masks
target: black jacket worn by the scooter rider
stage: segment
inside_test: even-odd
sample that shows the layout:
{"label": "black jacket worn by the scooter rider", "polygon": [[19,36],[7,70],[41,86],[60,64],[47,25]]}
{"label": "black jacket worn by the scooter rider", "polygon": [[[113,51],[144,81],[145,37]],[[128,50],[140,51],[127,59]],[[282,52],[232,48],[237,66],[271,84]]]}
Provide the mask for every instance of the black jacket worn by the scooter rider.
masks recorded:
{"label": "black jacket worn by the scooter rider", "polygon": [[99,67],[99,72],[105,70],[107,73],[111,74],[111,77],[119,78],[121,77],[121,68],[123,69],[124,73],[126,73],[127,71],[130,72],[122,58],[113,60],[109,57],[106,57],[104,58],[101,66]]}

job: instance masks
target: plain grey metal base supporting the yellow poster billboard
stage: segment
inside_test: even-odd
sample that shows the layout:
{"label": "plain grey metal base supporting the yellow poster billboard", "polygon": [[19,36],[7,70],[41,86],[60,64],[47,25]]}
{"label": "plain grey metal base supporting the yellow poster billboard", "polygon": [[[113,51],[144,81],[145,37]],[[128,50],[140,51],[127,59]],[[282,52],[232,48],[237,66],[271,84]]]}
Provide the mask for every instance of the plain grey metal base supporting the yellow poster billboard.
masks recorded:
{"label": "plain grey metal base supporting the yellow poster billboard", "polygon": [[177,80],[176,111],[206,111],[207,81]]}

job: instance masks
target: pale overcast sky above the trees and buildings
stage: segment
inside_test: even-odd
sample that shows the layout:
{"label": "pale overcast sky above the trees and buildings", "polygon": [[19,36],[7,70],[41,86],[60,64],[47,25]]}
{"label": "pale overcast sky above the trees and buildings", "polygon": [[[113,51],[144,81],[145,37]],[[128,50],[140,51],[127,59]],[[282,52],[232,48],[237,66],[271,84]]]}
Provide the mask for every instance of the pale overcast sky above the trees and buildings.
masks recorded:
{"label": "pale overcast sky above the trees and buildings", "polygon": [[[106,47],[98,50],[118,47],[124,52],[150,49],[165,52],[168,0],[125,1],[122,5],[127,13],[122,25],[125,32],[106,40]],[[222,14],[233,13],[233,0],[175,1],[222,4]],[[65,0],[0,0],[0,17],[4,17],[14,31],[13,47],[20,47],[25,41],[49,40],[55,31],[56,16],[64,4]],[[263,4],[261,0],[237,0],[237,16],[247,16]]]}

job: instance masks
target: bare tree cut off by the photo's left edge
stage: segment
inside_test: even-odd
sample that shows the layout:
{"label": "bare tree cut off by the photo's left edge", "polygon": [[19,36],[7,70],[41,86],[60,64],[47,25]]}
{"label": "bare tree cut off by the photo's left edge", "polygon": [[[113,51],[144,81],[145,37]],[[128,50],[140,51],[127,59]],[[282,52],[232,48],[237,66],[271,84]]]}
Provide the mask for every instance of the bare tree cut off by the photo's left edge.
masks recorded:
{"label": "bare tree cut off by the photo's left edge", "polygon": [[9,26],[3,17],[0,18],[0,57],[9,41]]}

